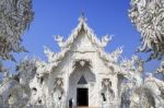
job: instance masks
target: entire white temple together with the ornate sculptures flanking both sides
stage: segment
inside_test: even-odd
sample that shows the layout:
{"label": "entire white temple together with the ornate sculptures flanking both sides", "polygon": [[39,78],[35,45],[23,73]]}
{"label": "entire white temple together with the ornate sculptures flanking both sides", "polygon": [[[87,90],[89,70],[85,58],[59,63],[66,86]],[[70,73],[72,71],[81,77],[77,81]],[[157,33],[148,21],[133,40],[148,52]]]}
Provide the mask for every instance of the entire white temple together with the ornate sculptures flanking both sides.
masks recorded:
{"label": "entire white temple together with the ornate sculptures flanking both sides", "polygon": [[45,47],[47,62],[36,60],[36,69],[22,63],[17,81],[4,79],[0,86],[1,105],[10,108],[68,108],[71,104],[73,108],[164,108],[157,107],[163,106],[159,87],[164,86],[163,82],[150,75],[143,83],[142,60],[137,56],[119,60],[121,47],[105,52],[112,37],[99,40],[83,15],[67,40],[62,36],[55,39],[60,52]]}

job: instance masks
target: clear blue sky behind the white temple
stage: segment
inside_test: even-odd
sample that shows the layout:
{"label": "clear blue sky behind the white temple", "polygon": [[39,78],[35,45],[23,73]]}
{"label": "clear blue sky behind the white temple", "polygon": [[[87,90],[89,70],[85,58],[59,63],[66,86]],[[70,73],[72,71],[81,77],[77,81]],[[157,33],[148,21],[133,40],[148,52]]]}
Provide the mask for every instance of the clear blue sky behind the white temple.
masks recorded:
{"label": "clear blue sky behind the white temple", "polygon": [[[106,51],[113,51],[124,46],[122,56],[131,58],[140,45],[140,34],[132,26],[128,17],[130,0],[33,0],[35,12],[30,29],[23,36],[23,45],[28,53],[16,53],[17,62],[25,56],[36,56],[46,60],[43,46],[54,51],[59,47],[52,36],[62,35],[65,39],[78,24],[78,17],[83,11],[87,24],[101,38],[103,35],[114,35]],[[148,53],[137,53],[144,60]],[[8,62],[7,65],[12,65]],[[159,67],[153,60],[145,64],[145,71],[152,72]]]}

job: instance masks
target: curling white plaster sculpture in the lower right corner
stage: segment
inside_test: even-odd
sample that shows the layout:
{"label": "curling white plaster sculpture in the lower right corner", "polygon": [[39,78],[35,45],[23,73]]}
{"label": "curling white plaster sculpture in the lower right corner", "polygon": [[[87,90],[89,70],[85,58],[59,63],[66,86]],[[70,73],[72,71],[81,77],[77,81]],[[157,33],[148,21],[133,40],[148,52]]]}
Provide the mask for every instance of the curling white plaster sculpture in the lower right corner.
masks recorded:
{"label": "curling white plaster sculpture in the lower right corner", "polygon": [[133,83],[130,108],[163,108],[163,81],[150,74],[142,85],[137,86]]}

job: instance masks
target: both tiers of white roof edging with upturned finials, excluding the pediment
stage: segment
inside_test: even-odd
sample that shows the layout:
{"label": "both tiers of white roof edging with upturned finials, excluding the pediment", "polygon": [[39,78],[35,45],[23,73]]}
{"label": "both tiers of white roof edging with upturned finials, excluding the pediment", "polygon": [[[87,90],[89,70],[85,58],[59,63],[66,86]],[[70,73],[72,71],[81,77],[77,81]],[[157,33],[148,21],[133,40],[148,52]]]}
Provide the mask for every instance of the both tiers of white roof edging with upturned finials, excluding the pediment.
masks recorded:
{"label": "both tiers of white roof edging with upturned finials, excluding the pediment", "polygon": [[[49,48],[45,47],[45,55],[48,58],[47,67],[51,70],[51,68],[58,67],[59,62],[62,61],[62,58],[65,58],[66,53],[70,50],[71,45],[74,43],[75,38],[79,36],[79,33],[81,29],[84,29],[89,38],[93,44],[97,47],[97,52],[99,53],[99,57],[104,60],[104,62],[109,65],[109,63],[116,64],[118,62],[118,58],[120,57],[122,49],[118,48],[112,53],[106,53],[104,51],[104,47],[107,45],[109,40],[112,40],[112,37],[104,36],[102,40],[99,40],[94,32],[87,26],[86,19],[81,15],[79,17],[79,24],[78,26],[72,31],[71,35],[68,37],[66,41],[63,41],[63,38],[61,36],[57,36],[55,39],[59,44],[61,50],[60,52],[54,52]],[[50,70],[47,70],[50,72]]]}

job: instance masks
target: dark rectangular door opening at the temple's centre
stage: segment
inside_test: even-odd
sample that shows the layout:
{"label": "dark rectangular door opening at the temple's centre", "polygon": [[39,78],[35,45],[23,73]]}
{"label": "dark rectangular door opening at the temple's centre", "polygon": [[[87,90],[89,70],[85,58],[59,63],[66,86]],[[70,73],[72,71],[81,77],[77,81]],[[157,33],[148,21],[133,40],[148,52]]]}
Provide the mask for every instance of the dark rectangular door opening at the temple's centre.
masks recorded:
{"label": "dark rectangular door opening at the temple's centre", "polygon": [[89,106],[89,89],[87,88],[77,88],[77,105]]}

